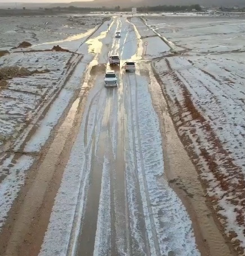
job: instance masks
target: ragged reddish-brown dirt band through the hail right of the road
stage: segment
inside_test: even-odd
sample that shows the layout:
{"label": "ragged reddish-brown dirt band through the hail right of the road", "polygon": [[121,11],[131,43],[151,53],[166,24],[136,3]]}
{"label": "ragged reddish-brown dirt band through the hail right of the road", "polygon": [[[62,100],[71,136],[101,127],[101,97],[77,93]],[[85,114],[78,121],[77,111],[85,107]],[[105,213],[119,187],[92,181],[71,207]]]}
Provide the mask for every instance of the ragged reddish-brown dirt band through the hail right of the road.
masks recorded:
{"label": "ragged reddish-brown dirt band through the hail right of the road", "polygon": [[[197,171],[199,174],[203,172],[203,162],[199,159],[197,156],[197,153],[195,151],[194,145],[193,145],[193,138],[195,138],[195,142],[199,144],[199,150],[201,151],[201,156],[205,159],[205,162],[207,164],[208,170],[213,173],[213,176],[215,177],[215,181],[217,184],[219,184],[220,189],[222,189],[225,193],[222,197],[229,197],[233,196],[234,192],[236,194],[237,200],[230,200],[230,203],[233,205],[239,205],[242,206],[242,210],[237,211],[237,221],[241,226],[244,227],[244,233],[245,233],[245,219],[244,219],[244,212],[245,212],[245,206],[244,206],[244,187],[245,187],[245,177],[242,173],[242,170],[239,166],[237,166],[234,163],[233,158],[230,156],[229,152],[224,149],[224,146],[222,145],[222,142],[220,141],[219,137],[217,136],[216,132],[213,131],[211,128],[211,125],[208,123],[208,120],[204,118],[202,113],[197,109],[197,107],[194,106],[193,101],[191,100],[191,94],[189,90],[186,88],[186,86],[182,83],[182,81],[179,79],[179,77],[176,76],[175,72],[171,70],[170,63],[166,61],[166,64],[169,68],[169,71],[165,73],[170,75],[173,79],[175,79],[176,83],[179,84],[181,88],[181,94],[184,97],[184,102],[178,102],[177,99],[173,99],[167,94],[167,90],[162,84],[163,93],[166,94],[166,100],[168,103],[168,108],[170,110],[173,123],[176,127],[177,132],[179,133],[179,136],[181,138],[182,144],[184,144],[185,149],[188,152],[188,155],[190,159],[195,164]],[[157,75],[158,81],[161,81],[161,76]],[[178,106],[178,110],[173,111],[171,109],[171,106]],[[190,114],[192,120],[186,120],[183,118],[183,116],[186,115],[186,113]],[[191,137],[188,135],[188,133],[180,131],[180,128],[188,128],[191,127],[191,121],[197,122],[198,126],[204,131],[206,131],[208,143],[210,148],[207,150],[207,147],[204,147],[199,140],[198,137],[198,126],[193,127],[191,129]],[[201,124],[201,125],[200,125]],[[213,153],[215,152],[215,153]],[[219,166],[217,164],[217,159],[220,159]],[[221,172],[220,168],[223,168],[226,170],[226,172]],[[232,180],[236,178],[238,180],[237,184],[234,184]],[[203,188],[207,191],[208,189],[212,189],[212,187],[207,183],[206,180],[201,180]],[[221,222],[221,219],[225,221],[224,216],[222,216],[219,211],[221,208],[219,205],[217,205],[217,202],[219,200],[218,197],[209,197],[208,194],[206,194],[207,203],[210,206],[212,212],[215,214],[216,224],[220,228],[224,238],[228,241],[229,246],[232,244],[233,246],[230,246],[230,249],[233,250],[234,255],[242,255],[243,254],[243,248],[239,246],[239,241],[231,241],[232,238],[236,237],[235,234],[230,234],[230,236],[226,236],[224,232],[224,224]],[[241,203],[242,202],[242,203]]]}

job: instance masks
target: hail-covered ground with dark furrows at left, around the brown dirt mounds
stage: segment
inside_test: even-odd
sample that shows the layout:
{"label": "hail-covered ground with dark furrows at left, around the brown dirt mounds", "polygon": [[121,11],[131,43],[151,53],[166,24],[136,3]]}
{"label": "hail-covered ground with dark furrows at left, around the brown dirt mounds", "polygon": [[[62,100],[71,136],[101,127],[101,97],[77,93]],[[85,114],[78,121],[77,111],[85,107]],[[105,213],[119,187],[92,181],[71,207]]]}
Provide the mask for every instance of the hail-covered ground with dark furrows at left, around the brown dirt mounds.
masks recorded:
{"label": "hail-covered ground with dark furrows at left, around the brown dirt mounds", "polygon": [[0,58],[2,67],[21,66],[30,71],[45,69],[48,73],[38,73],[29,77],[16,77],[0,92],[0,137],[14,136],[25,122],[34,120],[37,111],[52,94],[59,89],[59,81],[65,76],[63,71],[69,53],[14,53]]}

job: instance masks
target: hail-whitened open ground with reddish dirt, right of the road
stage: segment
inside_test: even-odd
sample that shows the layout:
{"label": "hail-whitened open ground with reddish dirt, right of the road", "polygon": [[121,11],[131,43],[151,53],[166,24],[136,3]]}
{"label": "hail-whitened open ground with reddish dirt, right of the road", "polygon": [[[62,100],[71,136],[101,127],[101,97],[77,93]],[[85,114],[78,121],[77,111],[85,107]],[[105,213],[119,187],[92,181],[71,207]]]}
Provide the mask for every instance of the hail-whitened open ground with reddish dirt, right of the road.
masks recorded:
{"label": "hail-whitened open ground with reddish dirt, right of the road", "polygon": [[143,21],[179,52],[152,65],[208,201],[226,236],[244,248],[244,19]]}

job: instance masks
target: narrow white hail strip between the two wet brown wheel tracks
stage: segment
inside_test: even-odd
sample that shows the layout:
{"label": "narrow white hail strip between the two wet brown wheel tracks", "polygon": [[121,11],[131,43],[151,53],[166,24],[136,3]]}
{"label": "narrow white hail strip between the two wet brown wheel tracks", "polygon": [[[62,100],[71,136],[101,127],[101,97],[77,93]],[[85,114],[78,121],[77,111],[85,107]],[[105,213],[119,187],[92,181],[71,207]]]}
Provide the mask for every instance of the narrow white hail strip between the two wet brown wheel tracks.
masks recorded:
{"label": "narrow white hail strip between the two wet brown wheel tracks", "polygon": [[[101,193],[100,193],[100,205],[99,214],[97,218],[97,229],[95,238],[95,250],[93,255],[115,255],[114,244],[112,242],[113,228],[112,219],[114,218],[112,209],[114,207],[113,202],[113,173],[115,172],[115,159],[113,155],[113,133],[114,120],[117,116],[117,108],[114,108],[117,103],[117,88],[106,89],[108,98],[108,110],[106,111],[104,128],[105,128],[105,152],[104,152],[104,164],[103,164],[103,176],[101,180]],[[116,110],[114,110],[116,109]]]}

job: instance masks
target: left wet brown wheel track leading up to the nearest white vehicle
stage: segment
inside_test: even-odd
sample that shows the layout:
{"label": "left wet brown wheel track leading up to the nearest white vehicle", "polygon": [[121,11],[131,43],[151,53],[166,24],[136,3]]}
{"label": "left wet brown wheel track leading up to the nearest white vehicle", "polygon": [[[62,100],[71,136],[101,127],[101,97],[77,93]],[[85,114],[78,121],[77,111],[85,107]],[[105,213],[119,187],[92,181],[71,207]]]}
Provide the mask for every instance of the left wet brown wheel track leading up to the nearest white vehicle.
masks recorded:
{"label": "left wet brown wheel track leading up to the nearest white vehicle", "polygon": [[[103,179],[103,167],[105,158],[106,141],[108,137],[108,123],[110,110],[112,109],[111,92],[106,93],[106,104],[104,108],[99,141],[95,151],[95,140],[93,140],[92,164],[90,168],[90,185],[87,194],[86,210],[84,212],[83,225],[79,235],[79,246],[77,255],[93,255],[96,241],[97,220],[100,208],[100,196],[103,193],[101,181]],[[96,155],[96,160],[95,160]]]}

